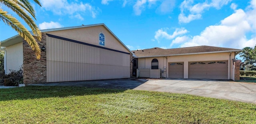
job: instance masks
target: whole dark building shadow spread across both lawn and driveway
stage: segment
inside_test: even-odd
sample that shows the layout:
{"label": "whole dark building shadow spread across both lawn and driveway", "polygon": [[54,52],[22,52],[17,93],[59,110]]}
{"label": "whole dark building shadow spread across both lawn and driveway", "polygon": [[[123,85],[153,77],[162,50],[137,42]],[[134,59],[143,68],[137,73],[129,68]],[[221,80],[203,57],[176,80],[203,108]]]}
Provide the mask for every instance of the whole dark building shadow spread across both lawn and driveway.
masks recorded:
{"label": "whole dark building shadow spread across both lawn and driveway", "polygon": [[126,89],[134,89],[146,81],[148,80],[110,79],[26,85],[0,89],[0,101],[120,93]]}

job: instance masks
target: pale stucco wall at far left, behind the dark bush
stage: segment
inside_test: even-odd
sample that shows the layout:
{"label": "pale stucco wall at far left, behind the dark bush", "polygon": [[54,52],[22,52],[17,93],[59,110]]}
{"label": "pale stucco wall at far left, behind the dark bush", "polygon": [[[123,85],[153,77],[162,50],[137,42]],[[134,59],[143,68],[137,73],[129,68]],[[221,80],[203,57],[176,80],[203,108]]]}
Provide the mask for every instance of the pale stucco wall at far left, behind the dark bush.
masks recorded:
{"label": "pale stucco wall at far left, behind the dark bush", "polygon": [[6,72],[18,70],[23,64],[22,42],[6,47]]}

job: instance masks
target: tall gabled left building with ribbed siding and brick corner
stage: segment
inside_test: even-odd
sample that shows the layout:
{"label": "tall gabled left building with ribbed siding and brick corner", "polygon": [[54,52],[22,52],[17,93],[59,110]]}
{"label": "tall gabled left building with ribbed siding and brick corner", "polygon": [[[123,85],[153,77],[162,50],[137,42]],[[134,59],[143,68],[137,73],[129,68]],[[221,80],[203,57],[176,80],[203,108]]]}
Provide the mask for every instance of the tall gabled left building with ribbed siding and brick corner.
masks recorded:
{"label": "tall gabled left building with ribbed siding and brick corner", "polygon": [[105,24],[41,30],[40,60],[16,35],[1,42],[4,68],[23,65],[24,83],[48,83],[128,78],[132,75],[132,52]]}

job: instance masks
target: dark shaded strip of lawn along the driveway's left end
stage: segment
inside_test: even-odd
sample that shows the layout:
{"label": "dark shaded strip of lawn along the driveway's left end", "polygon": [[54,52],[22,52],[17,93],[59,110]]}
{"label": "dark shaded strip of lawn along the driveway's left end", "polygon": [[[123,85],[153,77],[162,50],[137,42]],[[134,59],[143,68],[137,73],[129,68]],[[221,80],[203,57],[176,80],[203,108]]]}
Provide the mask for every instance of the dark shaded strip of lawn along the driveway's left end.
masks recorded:
{"label": "dark shaded strip of lawn along the driveway's left end", "polygon": [[123,91],[125,90],[74,86],[26,86],[0,89],[0,101],[68,97],[73,95],[97,95],[104,93],[120,93]]}

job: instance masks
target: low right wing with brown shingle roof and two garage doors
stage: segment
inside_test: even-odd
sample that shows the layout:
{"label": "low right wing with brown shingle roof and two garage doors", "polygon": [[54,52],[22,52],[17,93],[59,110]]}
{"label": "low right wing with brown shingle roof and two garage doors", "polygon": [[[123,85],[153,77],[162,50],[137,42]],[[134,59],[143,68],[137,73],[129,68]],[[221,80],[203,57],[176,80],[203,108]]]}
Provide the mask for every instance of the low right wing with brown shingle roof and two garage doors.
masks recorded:
{"label": "low right wing with brown shingle roof and two garage doors", "polygon": [[240,65],[235,70],[233,59],[241,51],[198,46],[171,49],[155,47],[132,52],[138,58],[139,77],[235,80],[239,79]]}

